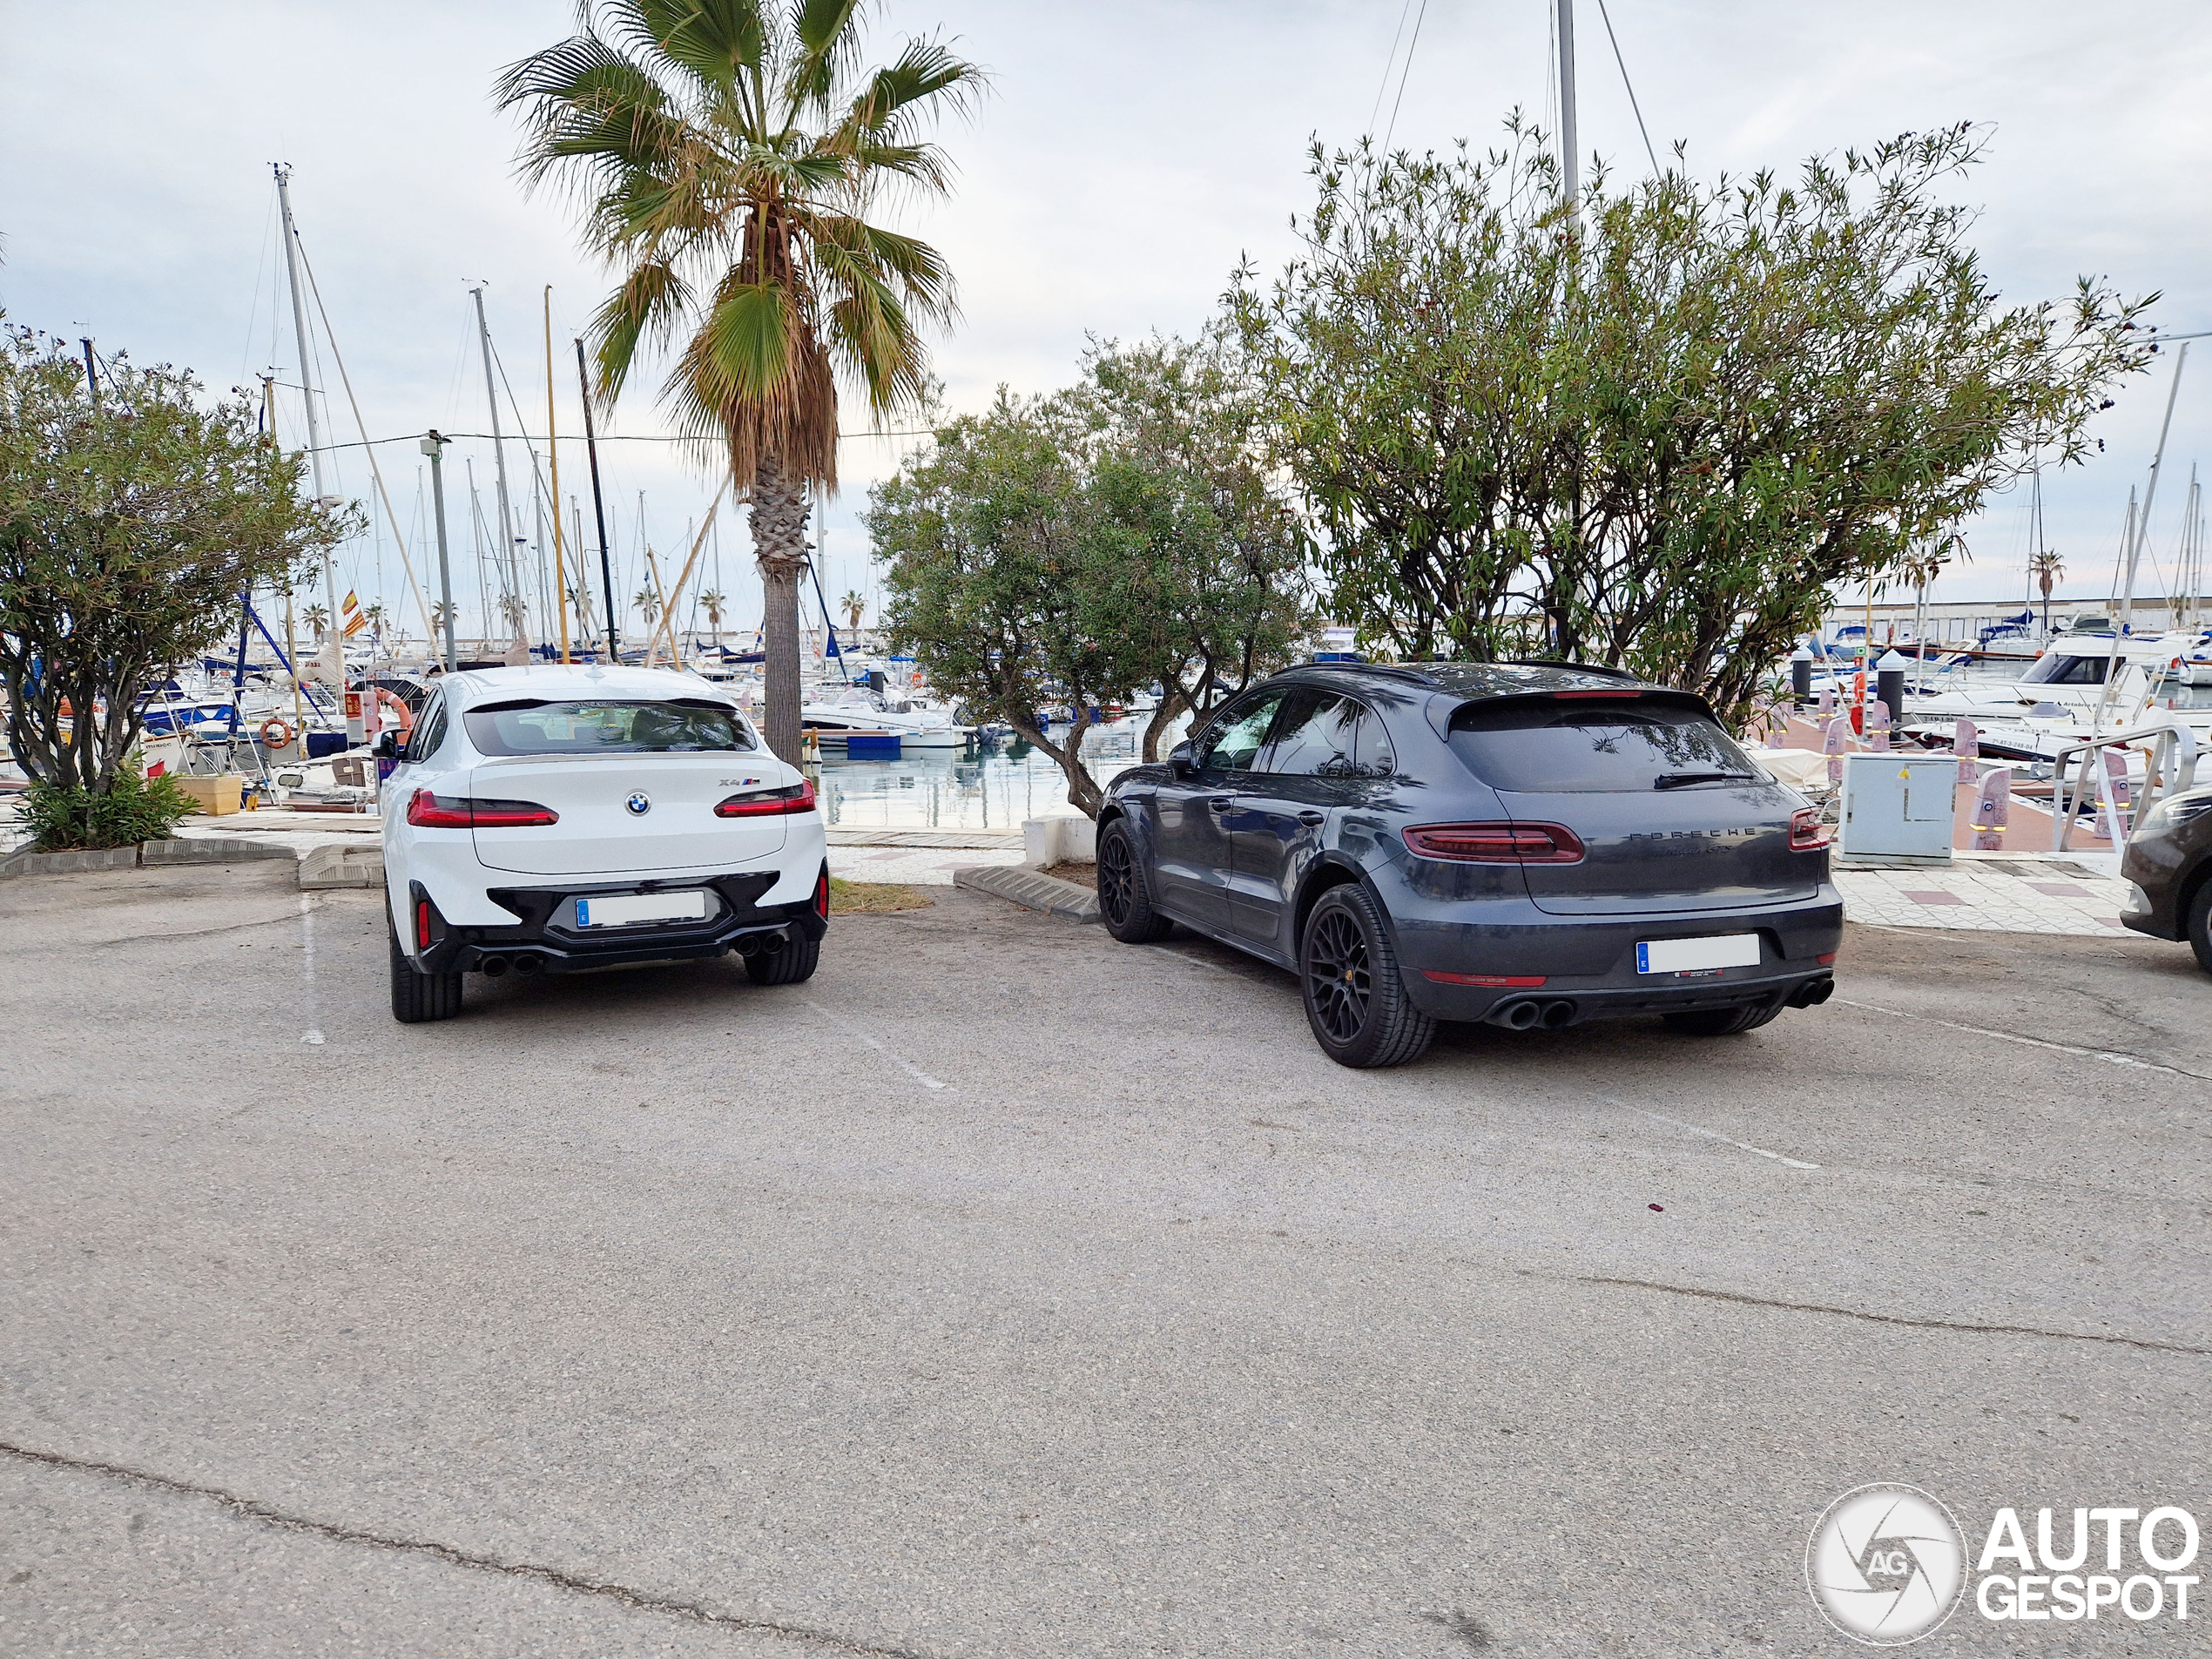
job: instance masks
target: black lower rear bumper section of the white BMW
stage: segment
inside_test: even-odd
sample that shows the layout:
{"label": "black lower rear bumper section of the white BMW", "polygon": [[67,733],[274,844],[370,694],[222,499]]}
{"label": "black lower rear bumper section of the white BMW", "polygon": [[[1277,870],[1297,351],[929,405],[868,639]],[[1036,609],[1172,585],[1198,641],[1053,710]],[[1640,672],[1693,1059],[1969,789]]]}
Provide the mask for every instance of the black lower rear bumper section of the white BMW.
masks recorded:
{"label": "black lower rear bumper section of the white BMW", "polygon": [[[812,900],[757,905],[776,872],[743,872],[706,880],[666,883],[659,891],[706,889],[708,916],[697,922],[639,922],[635,927],[577,929],[573,898],[644,891],[639,883],[577,883],[573,887],[493,887],[493,902],[515,914],[513,927],[447,925],[431,916],[431,945],[416,964],[425,973],[577,973],[633,962],[681,962],[726,951],[774,951],[792,940],[818,940],[830,925]],[[425,898],[420,883],[411,902]],[[414,916],[409,914],[409,922]]]}

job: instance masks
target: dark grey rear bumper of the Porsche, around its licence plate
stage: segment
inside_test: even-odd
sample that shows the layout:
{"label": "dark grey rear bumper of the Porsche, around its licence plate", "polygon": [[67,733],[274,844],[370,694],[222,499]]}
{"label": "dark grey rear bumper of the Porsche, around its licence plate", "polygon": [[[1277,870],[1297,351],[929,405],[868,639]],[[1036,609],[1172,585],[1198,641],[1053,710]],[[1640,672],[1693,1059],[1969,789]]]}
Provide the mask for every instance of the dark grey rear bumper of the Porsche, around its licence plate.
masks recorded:
{"label": "dark grey rear bumper of the Porsche, around its licence plate", "polygon": [[[1438,1020],[1506,1018],[1531,1000],[1540,1022],[1555,1026],[1745,1004],[1809,1006],[1825,1000],[1820,987],[1834,980],[1843,942],[1843,896],[1829,883],[1805,902],[1734,911],[1553,916],[1513,900],[1418,905],[1400,894],[1391,894],[1391,911],[1407,991]],[[1637,973],[1639,942],[1710,933],[1756,933],[1756,967]]]}

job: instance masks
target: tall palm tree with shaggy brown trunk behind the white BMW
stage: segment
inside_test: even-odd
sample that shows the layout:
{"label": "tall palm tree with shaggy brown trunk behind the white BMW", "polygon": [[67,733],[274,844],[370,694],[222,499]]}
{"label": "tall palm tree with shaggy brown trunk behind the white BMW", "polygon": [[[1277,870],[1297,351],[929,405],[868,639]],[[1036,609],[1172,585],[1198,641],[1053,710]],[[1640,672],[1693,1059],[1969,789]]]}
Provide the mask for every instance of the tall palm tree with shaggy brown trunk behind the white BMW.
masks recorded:
{"label": "tall palm tree with shaggy brown trunk behind the white BMW", "polygon": [[768,633],[770,748],[799,759],[799,573],[807,487],[836,489],[843,374],[878,425],[920,407],[927,323],[951,276],[922,241],[869,223],[885,195],[945,195],[920,139],[982,73],[933,40],[860,69],[860,0],[586,0],[577,35],[513,64],[522,175],[584,201],[584,241],[622,272],[593,319],[597,396],[641,345],[688,330],[666,398],[726,451],[752,502]]}

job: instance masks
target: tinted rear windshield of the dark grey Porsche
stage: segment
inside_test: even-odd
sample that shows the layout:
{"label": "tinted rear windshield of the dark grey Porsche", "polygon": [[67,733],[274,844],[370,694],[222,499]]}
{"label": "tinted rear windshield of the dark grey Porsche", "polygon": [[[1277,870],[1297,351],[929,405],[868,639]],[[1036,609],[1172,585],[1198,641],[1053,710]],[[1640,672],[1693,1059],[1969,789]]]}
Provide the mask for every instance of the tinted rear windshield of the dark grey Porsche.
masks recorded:
{"label": "tinted rear windshield of the dark grey Porsche", "polygon": [[1493,790],[1528,794],[1763,779],[1705,714],[1666,703],[1478,703],[1451,719],[1451,748]]}

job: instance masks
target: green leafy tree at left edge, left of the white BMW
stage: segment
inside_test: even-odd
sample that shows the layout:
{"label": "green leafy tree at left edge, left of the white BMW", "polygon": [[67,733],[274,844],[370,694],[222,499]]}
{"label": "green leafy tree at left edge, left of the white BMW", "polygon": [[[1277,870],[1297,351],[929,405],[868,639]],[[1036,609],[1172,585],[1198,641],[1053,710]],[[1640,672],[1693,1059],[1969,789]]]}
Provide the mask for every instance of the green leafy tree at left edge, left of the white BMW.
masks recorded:
{"label": "green leafy tree at left edge, left of the white BMW", "polygon": [[95,398],[60,341],[0,336],[0,675],[49,843],[139,823],[102,805],[139,741],[139,697],[237,626],[241,593],[294,580],[361,526],[303,498],[303,460],[254,416],[241,392],[210,403],[190,374],[126,358]]}

